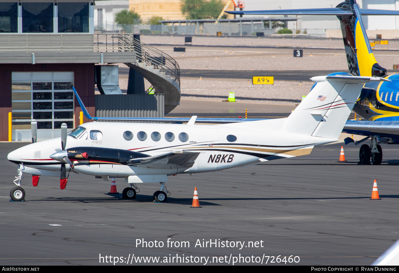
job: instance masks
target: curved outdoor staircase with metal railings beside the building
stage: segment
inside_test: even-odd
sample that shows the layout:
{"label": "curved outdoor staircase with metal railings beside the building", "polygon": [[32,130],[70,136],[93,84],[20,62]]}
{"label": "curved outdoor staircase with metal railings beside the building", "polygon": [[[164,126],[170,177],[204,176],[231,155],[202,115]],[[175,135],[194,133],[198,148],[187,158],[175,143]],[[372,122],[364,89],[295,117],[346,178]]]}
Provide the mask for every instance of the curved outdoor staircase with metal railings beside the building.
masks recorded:
{"label": "curved outdoor staircase with metal railings beside the building", "polygon": [[133,34],[97,34],[96,38],[99,51],[136,52],[136,63],[125,64],[152,84],[148,88],[152,94],[164,94],[165,114],[180,104],[180,68],[172,57],[134,39]]}

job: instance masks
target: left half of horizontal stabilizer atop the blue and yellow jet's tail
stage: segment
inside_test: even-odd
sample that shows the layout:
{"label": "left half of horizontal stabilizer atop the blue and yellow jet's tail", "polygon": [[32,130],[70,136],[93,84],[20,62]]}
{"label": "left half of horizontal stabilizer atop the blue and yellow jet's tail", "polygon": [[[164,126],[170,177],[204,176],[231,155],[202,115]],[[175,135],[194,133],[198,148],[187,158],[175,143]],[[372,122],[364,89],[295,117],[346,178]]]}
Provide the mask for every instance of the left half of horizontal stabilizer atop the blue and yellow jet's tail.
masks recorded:
{"label": "left half of horizontal stabilizer atop the blue and yellow jet's tail", "polygon": [[271,15],[352,15],[353,13],[345,8],[304,8],[295,10],[242,10],[226,11],[229,14],[271,14]]}

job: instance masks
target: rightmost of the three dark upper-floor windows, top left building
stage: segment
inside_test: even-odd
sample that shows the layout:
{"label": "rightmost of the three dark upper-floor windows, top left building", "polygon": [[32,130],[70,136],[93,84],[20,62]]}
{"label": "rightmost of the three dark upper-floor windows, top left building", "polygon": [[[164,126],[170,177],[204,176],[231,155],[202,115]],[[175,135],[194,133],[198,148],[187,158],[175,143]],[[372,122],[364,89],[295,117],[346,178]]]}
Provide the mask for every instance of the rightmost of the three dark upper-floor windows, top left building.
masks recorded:
{"label": "rightmost of the three dark upper-floor windows, top left building", "polygon": [[89,3],[58,2],[58,32],[89,32]]}

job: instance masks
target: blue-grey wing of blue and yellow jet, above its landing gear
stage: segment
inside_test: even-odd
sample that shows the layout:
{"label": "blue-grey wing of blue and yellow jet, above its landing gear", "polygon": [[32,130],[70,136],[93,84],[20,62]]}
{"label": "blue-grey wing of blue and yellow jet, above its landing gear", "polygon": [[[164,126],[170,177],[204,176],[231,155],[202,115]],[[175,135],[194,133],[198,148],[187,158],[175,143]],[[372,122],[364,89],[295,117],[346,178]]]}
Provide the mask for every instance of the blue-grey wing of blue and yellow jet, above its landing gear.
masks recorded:
{"label": "blue-grey wing of blue and yellow jet, above its landing gear", "polygon": [[342,132],[361,136],[399,138],[399,121],[348,120]]}

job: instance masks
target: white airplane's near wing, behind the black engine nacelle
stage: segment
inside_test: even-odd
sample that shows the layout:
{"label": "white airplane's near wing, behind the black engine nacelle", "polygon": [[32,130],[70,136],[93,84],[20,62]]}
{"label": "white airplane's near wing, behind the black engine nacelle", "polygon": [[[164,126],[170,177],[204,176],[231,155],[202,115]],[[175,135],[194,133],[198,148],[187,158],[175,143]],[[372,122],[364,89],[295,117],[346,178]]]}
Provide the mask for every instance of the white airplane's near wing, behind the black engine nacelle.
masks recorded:
{"label": "white airplane's near wing, behind the black engine nacelle", "polygon": [[149,168],[156,169],[188,169],[194,165],[199,153],[190,151],[174,151],[164,153],[162,155],[154,155],[150,157],[131,159],[128,161],[129,166],[142,166],[146,165]]}

